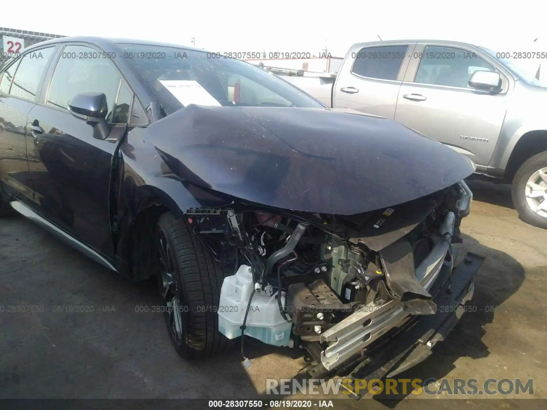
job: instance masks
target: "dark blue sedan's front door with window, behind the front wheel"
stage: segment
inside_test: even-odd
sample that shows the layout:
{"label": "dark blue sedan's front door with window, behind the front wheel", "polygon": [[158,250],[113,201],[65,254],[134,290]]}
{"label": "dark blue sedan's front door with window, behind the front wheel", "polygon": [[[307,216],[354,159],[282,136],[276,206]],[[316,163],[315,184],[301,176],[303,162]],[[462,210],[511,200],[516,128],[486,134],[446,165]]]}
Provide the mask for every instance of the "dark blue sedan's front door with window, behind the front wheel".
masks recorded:
{"label": "dark blue sedan's front door with window, behind the front wheel", "polygon": [[[37,212],[104,256],[113,256],[110,231],[112,157],[130,118],[133,92],[101,50],[67,44],[46,77],[40,102],[28,114],[27,153]],[[110,135],[68,110],[77,93],[104,93]]]}

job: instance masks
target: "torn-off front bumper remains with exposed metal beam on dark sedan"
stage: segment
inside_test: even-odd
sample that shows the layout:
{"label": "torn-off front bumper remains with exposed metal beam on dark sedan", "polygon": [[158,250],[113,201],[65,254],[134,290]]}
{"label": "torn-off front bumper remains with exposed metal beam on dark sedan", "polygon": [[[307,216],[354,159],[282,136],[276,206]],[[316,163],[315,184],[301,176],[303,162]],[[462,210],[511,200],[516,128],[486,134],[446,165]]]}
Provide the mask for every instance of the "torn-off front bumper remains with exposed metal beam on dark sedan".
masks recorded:
{"label": "torn-off front bumper remains with exposed metal beam on dark sedan", "polygon": [[[393,376],[425,359],[433,345],[452,330],[463,313],[463,304],[473,295],[473,276],[483,261],[469,253],[455,267],[457,249],[451,243],[461,242],[459,222],[469,214],[473,197],[464,181],[458,186],[461,196],[455,212],[445,215],[439,232],[432,236],[434,246],[416,267],[415,279],[401,275],[404,264],[392,264],[392,292],[398,286],[402,294],[410,290],[414,296],[421,293],[417,296],[423,299],[409,301],[401,295],[399,300],[380,306],[371,302],[330,327],[319,343],[306,346],[309,360],[315,363],[308,371],[311,376],[333,372],[349,378]],[[388,264],[384,265],[387,268]],[[414,267],[411,271],[414,274]],[[424,303],[412,303],[416,301]]]}

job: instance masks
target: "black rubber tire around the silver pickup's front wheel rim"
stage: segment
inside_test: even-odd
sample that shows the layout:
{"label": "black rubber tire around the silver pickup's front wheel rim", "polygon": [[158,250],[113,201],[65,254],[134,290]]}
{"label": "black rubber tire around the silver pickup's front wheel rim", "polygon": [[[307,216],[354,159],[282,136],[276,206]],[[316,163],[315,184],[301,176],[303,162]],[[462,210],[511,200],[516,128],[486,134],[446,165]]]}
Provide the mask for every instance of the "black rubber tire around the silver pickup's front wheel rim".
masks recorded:
{"label": "black rubber tire around the silver pickup's front wheel rim", "polygon": [[526,184],[532,174],[538,169],[547,167],[547,151],[529,158],[523,163],[513,178],[511,196],[519,218],[530,225],[547,229],[547,218],[534,212],[526,202]]}

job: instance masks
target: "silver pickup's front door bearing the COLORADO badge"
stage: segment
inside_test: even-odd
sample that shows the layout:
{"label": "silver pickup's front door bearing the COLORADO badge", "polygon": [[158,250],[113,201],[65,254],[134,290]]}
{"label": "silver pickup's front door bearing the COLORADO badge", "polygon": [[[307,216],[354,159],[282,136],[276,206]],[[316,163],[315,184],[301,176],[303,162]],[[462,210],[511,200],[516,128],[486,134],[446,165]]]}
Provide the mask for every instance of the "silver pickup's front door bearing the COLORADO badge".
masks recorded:
{"label": "silver pickup's front door bearing the COLORADO badge", "polygon": [[[395,121],[487,165],[507,112],[510,75],[471,46],[418,43],[414,55],[399,90]],[[470,87],[476,70],[498,71],[501,92]]]}

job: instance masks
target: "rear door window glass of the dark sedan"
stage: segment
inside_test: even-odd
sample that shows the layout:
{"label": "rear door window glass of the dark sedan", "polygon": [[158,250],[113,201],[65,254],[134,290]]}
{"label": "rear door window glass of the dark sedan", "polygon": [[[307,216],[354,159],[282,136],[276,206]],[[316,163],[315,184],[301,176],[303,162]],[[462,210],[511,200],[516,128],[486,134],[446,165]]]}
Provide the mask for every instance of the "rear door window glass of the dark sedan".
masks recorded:
{"label": "rear door window glass of the dark sedan", "polygon": [[15,72],[10,95],[31,100],[36,98],[40,79],[54,49],[54,47],[48,47],[28,52],[23,56]]}

